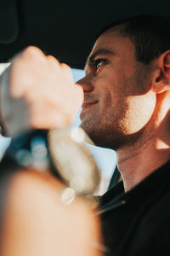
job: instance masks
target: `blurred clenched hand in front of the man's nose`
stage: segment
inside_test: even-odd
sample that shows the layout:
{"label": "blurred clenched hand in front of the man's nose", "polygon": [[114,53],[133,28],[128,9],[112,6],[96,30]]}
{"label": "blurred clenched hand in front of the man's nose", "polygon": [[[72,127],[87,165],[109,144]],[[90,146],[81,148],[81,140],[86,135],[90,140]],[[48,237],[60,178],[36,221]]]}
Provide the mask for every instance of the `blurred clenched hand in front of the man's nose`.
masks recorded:
{"label": "blurred clenched hand in front of the man's nose", "polygon": [[[81,86],[74,84],[70,67],[30,46],[14,57],[6,75],[13,102],[18,99],[26,103],[27,126],[52,129],[71,125],[82,104],[83,92]],[[19,116],[22,109],[20,113],[13,111],[12,107],[10,118],[11,114]]]}

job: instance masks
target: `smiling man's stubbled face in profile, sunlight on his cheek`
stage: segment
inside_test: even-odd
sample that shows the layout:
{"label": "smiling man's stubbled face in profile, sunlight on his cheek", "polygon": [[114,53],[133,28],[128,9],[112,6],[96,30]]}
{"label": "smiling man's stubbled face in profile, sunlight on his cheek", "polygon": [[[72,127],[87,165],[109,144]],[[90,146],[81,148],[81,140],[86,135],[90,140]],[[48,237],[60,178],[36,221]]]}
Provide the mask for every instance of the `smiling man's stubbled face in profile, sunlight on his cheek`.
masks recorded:
{"label": "smiling man's stubbled face in profile, sunlight on his cheek", "polygon": [[78,84],[84,90],[81,127],[99,146],[120,148],[144,130],[156,104],[150,91],[150,66],[135,58],[135,49],[122,37],[119,25],[94,44]]}

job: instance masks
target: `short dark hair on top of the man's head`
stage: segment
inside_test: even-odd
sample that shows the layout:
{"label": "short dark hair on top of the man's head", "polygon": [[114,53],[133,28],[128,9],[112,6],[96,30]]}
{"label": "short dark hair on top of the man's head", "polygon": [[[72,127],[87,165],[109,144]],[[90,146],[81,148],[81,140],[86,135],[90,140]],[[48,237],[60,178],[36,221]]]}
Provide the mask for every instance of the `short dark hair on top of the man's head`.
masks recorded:
{"label": "short dark hair on top of the man's head", "polygon": [[132,41],[137,61],[148,64],[167,49],[170,49],[169,17],[144,15],[119,20],[101,29],[98,37],[111,27],[122,23],[125,23],[125,26],[121,30],[121,35]]}

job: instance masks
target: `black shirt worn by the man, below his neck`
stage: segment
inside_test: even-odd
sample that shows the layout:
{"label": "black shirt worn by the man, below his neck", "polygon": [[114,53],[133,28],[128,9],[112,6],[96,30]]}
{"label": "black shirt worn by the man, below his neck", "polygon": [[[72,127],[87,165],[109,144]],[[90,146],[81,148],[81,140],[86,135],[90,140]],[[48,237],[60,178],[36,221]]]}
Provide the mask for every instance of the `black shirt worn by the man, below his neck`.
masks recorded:
{"label": "black shirt worn by the man, below his neck", "polygon": [[[124,192],[118,183],[100,198],[105,255],[162,255],[170,248],[170,161]],[[167,253],[168,254],[168,253]]]}

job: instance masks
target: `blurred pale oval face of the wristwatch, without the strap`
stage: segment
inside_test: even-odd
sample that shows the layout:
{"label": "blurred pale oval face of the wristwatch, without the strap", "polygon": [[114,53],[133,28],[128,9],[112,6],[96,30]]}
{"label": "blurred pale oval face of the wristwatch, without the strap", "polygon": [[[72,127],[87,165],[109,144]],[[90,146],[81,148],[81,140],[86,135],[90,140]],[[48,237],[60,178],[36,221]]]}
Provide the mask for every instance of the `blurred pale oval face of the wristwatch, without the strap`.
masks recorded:
{"label": "blurred pale oval face of the wristwatch, without the strap", "polygon": [[56,129],[48,133],[49,153],[65,183],[80,195],[94,195],[100,170],[86,143],[94,144],[82,128]]}

